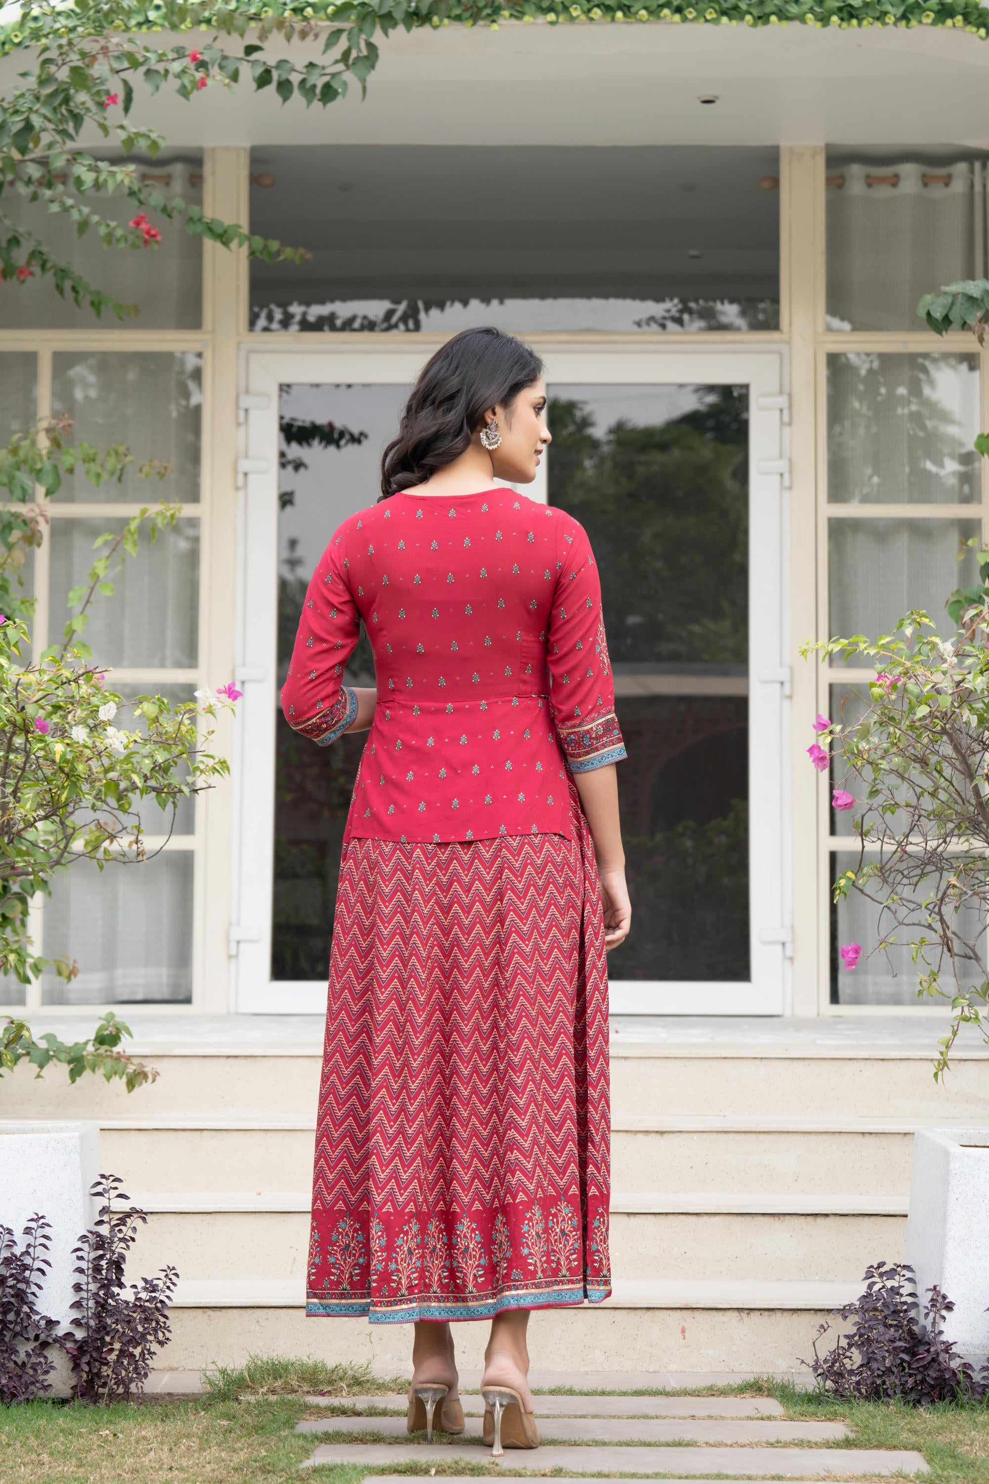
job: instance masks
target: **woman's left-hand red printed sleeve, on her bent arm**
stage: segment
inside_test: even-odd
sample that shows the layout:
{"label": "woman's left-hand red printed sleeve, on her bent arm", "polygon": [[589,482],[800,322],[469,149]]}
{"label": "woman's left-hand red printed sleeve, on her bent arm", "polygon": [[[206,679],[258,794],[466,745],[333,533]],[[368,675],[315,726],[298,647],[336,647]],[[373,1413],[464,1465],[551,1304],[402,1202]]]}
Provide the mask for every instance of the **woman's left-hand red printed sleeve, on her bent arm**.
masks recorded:
{"label": "woman's left-hand red printed sleeve, on her bent arm", "polygon": [[320,746],[343,736],[357,715],[357,696],[343,684],[343,674],[359,637],[360,614],[347,582],[344,542],[337,533],[308,585],[282,687],[286,721]]}

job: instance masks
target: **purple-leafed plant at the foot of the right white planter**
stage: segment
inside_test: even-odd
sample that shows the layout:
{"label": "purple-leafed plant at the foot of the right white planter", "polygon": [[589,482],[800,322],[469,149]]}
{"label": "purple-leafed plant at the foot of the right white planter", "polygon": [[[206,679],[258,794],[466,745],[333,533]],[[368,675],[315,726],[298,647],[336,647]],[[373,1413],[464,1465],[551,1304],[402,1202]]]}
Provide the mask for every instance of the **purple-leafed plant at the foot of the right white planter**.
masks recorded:
{"label": "purple-leafed plant at the foot of the right white planter", "polygon": [[955,1304],[937,1285],[927,1290],[921,1315],[909,1263],[876,1263],[866,1269],[863,1281],[864,1293],[835,1310],[851,1328],[818,1355],[817,1346],[832,1328],[821,1324],[814,1359],[801,1361],[823,1392],[859,1401],[899,1398],[918,1407],[986,1393],[986,1373],[976,1379],[971,1365],[955,1353],[955,1342],[945,1339],[945,1315]]}

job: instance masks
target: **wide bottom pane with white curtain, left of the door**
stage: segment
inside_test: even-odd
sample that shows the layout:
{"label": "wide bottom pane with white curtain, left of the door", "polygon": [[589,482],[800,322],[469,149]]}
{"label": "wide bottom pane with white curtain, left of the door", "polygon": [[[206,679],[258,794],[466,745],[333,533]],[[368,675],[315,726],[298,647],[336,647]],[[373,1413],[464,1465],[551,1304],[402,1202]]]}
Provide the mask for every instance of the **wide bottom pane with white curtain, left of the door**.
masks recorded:
{"label": "wide bottom pane with white curtain, left of the door", "polygon": [[67,956],[79,976],[47,969],[44,1005],[184,1003],[193,997],[191,850],[150,861],[80,861],[52,881],[44,904],[44,956]]}

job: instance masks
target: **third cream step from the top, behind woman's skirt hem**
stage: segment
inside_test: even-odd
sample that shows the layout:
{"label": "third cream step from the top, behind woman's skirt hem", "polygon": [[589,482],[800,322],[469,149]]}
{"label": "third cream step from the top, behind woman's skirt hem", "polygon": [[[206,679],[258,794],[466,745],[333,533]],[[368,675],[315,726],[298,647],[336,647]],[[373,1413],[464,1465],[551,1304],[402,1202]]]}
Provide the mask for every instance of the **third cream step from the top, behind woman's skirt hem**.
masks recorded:
{"label": "third cream step from the top, behind woman's skirt hem", "polygon": [[[147,1199],[147,1204],[145,1204]],[[154,1211],[151,1196],[136,1199]],[[305,1270],[308,1201],[274,1193],[255,1196],[245,1209],[222,1209],[222,1198],[203,1198],[214,1209],[157,1209],[138,1236],[133,1261],[141,1270],[166,1263],[185,1278],[292,1278]],[[657,1198],[657,1204],[663,1202]],[[684,1202],[687,1204],[687,1202]],[[845,1202],[851,1204],[851,1202]],[[611,1260],[618,1278],[688,1279],[701,1269],[716,1279],[841,1281],[864,1269],[873,1257],[899,1260],[906,1238],[902,1215],[747,1214],[731,1209],[703,1212],[623,1214],[612,1202]],[[219,1206],[221,1209],[216,1209]]]}

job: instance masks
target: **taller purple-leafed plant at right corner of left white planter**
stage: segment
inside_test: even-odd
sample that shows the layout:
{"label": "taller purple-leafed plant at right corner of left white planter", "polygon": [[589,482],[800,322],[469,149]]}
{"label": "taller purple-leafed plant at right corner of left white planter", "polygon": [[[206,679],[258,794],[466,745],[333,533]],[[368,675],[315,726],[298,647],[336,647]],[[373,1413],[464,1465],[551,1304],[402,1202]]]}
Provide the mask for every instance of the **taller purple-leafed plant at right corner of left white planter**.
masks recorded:
{"label": "taller purple-leafed plant at right corner of left white planter", "polygon": [[80,1278],[73,1284],[79,1294],[73,1325],[80,1333],[65,1337],[65,1350],[73,1364],[73,1395],[107,1405],[144,1391],[151,1359],[172,1334],[168,1310],[178,1273],[165,1267],[160,1278],[130,1284],[128,1294],[125,1264],[147,1215],[116,1204],[130,1199],[117,1175],[99,1175],[90,1193],[102,1198],[102,1205],[73,1251]]}

